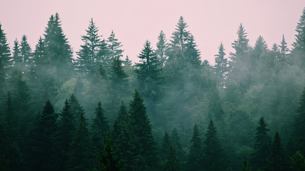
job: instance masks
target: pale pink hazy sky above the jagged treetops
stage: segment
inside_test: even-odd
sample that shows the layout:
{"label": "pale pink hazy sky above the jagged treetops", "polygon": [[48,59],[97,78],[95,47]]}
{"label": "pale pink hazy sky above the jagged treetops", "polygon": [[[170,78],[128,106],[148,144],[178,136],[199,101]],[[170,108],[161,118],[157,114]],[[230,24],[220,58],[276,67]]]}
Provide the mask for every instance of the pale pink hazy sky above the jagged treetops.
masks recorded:
{"label": "pale pink hazy sky above the jagged treetops", "polygon": [[195,36],[202,60],[214,64],[221,41],[226,49],[225,57],[233,51],[231,43],[237,39],[240,23],[251,46],[261,35],[270,48],[273,43],[280,44],[284,34],[290,48],[304,7],[305,0],[1,0],[0,23],[11,48],[15,38],[20,42],[25,34],[34,50],[49,17],[58,12],[64,34],[76,52],[83,44],[81,35],[86,34],[92,17],[99,35],[107,39],[113,30],[123,44],[124,58],[128,55],[138,61],[145,40],[155,49],[161,30],[170,39],[182,15],[189,26],[187,30]]}

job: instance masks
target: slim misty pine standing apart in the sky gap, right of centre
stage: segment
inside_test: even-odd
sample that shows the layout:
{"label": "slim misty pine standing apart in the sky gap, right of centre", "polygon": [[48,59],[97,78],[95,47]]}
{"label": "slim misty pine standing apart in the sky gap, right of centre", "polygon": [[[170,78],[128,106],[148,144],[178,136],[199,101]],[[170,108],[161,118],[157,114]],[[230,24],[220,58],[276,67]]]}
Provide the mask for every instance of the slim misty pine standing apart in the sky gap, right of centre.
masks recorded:
{"label": "slim misty pine standing apart in the sky gap, right of centre", "polygon": [[216,73],[216,77],[218,79],[218,83],[222,86],[224,86],[225,81],[228,77],[228,60],[227,58],[224,58],[224,56],[226,55],[224,53],[224,45],[222,44],[222,42],[220,43],[220,46],[218,47],[218,54],[214,55],[215,57],[215,65],[214,65],[214,70]]}

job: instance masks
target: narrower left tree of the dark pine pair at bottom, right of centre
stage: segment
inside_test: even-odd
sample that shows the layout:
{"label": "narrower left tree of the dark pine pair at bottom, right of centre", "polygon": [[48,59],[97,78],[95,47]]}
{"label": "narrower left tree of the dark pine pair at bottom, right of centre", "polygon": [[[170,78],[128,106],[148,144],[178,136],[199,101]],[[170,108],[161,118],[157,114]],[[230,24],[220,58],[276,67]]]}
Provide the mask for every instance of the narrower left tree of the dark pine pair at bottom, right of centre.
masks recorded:
{"label": "narrower left tree of the dark pine pair at bottom, right of centre", "polygon": [[187,169],[188,170],[200,170],[201,169],[201,162],[203,157],[202,152],[202,140],[199,135],[199,128],[197,124],[193,127],[193,136],[191,139],[191,147],[188,154],[188,163]]}

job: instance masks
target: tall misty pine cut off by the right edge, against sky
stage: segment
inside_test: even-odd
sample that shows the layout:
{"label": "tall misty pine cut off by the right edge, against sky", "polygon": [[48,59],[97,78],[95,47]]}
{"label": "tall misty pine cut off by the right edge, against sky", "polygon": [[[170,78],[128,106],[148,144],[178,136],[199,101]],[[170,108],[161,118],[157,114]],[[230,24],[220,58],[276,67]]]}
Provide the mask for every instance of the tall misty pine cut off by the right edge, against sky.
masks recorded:
{"label": "tall misty pine cut off by the right edge, against sky", "polygon": [[292,44],[291,55],[293,58],[299,59],[300,61],[296,62],[300,67],[305,66],[305,8],[303,8],[302,15],[300,16],[299,22],[296,26],[295,42]]}

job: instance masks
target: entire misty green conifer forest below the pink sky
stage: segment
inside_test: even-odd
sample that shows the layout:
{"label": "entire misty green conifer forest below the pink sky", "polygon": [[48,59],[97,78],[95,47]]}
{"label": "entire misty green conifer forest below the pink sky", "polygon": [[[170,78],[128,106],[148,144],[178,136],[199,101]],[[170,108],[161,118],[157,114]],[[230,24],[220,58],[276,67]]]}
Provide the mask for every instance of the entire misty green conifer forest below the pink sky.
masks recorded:
{"label": "entire misty green conifer forest below the pink sky", "polygon": [[1,171],[305,170],[305,8],[291,49],[240,23],[214,65],[182,16],[139,63],[92,18],[75,53],[61,25],[31,47],[0,24]]}

